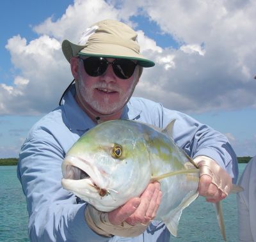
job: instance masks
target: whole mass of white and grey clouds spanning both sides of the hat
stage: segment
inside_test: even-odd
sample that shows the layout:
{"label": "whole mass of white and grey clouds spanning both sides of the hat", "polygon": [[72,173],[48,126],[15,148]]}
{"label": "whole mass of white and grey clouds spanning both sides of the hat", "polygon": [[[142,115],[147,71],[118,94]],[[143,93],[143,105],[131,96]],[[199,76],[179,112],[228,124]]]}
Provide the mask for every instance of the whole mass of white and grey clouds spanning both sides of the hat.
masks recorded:
{"label": "whole mass of white and grey clouds spanning both sides of the hat", "polygon": [[[102,19],[124,20],[138,29],[141,51],[156,62],[144,70],[134,95],[184,112],[256,107],[256,2],[243,1],[74,1],[62,17],[33,29],[38,38],[8,40],[19,75],[0,84],[0,114],[40,114],[53,109],[72,80],[61,52],[67,38],[77,42],[84,29]],[[157,46],[132,22],[143,15],[170,34],[179,48]]]}

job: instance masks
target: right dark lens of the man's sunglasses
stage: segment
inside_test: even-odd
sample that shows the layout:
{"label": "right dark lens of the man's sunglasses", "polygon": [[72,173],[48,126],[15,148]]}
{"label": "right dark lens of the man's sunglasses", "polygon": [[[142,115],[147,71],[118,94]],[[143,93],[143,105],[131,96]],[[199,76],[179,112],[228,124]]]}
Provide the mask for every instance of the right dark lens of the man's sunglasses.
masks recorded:
{"label": "right dark lens of the man's sunglasses", "polygon": [[136,64],[129,59],[115,59],[112,66],[116,76],[120,79],[129,79],[136,68]]}

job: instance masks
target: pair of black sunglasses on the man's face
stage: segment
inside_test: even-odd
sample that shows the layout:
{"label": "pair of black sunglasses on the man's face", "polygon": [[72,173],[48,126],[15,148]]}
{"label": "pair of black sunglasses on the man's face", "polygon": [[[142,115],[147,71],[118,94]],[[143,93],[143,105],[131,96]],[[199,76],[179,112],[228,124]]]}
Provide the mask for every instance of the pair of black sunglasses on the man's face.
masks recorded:
{"label": "pair of black sunglasses on the man's face", "polygon": [[103,57],[88,57],[82,60],[85,72],[91,77],[99,77],[106,72],[108,65],[111,64],[116,77],[129,79],[137,65],[130,59],[115,59],[113,62],[109,62]]}

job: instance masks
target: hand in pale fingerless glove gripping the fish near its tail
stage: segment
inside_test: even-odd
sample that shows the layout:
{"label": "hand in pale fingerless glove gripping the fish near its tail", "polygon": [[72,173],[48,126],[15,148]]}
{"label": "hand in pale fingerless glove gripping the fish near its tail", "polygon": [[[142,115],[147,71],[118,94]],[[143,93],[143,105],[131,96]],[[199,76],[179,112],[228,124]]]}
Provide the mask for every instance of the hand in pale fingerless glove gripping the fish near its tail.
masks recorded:
{"label": "hand in pale fingerless glove gripping the fish near its tail", "polygon": [[219,202],[227,197],[232,186],[231,177],[214,160],[206,156],[195,158],[200,169],[198,193],[207,202]]}

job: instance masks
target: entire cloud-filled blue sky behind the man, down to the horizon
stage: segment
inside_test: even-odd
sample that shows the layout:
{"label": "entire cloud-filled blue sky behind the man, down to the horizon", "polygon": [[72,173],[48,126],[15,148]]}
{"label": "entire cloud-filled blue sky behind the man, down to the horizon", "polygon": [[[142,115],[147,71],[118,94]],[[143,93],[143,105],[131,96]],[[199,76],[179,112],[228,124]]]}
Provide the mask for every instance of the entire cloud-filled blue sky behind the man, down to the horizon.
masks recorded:
{"label": "entire cloud-filled blue sky behind the man, down to the horizon", "polygon": [[[157,3],[155,3],[157,2]],[[191,4],[193,3],[193,4]],[[2,1],[0,158],[17,157],[29,128],[71,80],[61,42],[102,19],[139,33],[144,70],[134,96],[180,110],[256,154],[255,1]]]}

